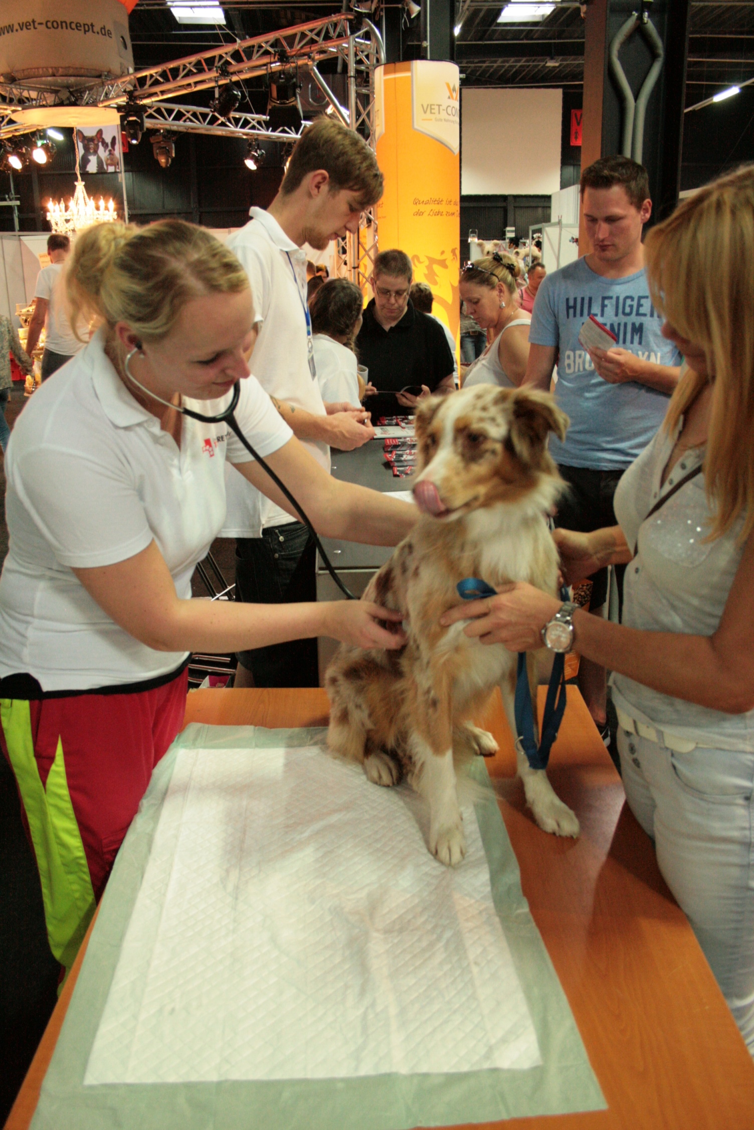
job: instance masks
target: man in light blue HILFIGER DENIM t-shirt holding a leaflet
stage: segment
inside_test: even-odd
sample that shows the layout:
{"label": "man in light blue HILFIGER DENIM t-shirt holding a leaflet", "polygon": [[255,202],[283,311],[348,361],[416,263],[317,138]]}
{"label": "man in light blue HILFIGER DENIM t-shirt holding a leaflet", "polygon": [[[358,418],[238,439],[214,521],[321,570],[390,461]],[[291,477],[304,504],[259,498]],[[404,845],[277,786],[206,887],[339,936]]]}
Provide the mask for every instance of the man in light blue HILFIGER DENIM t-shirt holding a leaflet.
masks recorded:
{"label": "man in light blue HILFIGER DENIM t-shirt holding a leaflet", "polygon": [[[555,522],[588,532],[616,524],[615,487],[661,425],[681,356],[661,334],[647,285],[641,233],[652,205],[646,168],[629,157],[596,160],[581,174],[581,208],[593,250],[542,281],[524,384],[550,389],[558,364],[555,399],[571,424],[566,441],[553,437],[550,450],[571,489]],[[589,315],[614,334],[613,348],[587,350],[579,342]],[[590,610],[602,615],[607,571],[591,580]],[[606,734],[604,669],[581,659],[579,686]]]}

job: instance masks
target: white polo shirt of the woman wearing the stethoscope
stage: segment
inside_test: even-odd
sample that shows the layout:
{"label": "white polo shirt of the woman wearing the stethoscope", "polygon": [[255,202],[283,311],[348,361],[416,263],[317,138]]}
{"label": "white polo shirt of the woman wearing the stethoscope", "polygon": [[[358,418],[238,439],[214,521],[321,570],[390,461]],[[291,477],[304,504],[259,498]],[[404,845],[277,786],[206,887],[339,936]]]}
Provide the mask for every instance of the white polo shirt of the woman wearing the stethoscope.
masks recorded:
{"label": "white polo shirt of the woman wearing the stethoscope", "polygon": [[[229,397],[186,405],[217,415]],[[253,376],[242,382],[236,418],[262,455],[292,435]],[[79,690],[174,670],[186,653],[139,643],[72,568],[125,560],[154,539],[178,597],[190,599],[194,567],[225,519],[226,457],[249,459],[227,424],[190,417],[178,449],[117,376],[102,331],[37,389],[6,453],[0,677],[28,672],[43,690]]]}

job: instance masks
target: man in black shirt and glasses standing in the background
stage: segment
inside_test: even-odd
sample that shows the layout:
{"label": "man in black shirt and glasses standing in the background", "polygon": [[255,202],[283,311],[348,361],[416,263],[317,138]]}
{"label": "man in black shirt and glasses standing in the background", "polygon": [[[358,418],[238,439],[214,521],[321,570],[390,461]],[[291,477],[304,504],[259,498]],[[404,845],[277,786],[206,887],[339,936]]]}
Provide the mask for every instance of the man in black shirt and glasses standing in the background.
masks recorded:
{"label": "man in black shirt and glasses standing in the background", "polygon": [[[413,270],[403,251],[382,251],[370,279],[375,297],[356,341],[376,394],[365,398],[372,420],[415,408],[430,392],[453,392],[453,354],[439,322],[414,310]],[[401,392],[421,388],[421,395]]]}

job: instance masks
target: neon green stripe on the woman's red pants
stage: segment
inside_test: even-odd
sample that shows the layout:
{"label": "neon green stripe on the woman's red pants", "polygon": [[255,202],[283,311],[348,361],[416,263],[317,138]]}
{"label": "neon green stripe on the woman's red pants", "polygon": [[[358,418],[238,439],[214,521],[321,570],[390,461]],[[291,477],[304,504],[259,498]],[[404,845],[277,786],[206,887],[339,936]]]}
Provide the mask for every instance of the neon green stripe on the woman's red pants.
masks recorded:
{"label": "neon green stripe on the woman's red pants", "polygon": [[40,869],[50,948],[70,970],[91,921],[95,896],[68,791],[63,744],[59,738],[45,786],[34,756],[28,702],[1,698],[0,721]]}

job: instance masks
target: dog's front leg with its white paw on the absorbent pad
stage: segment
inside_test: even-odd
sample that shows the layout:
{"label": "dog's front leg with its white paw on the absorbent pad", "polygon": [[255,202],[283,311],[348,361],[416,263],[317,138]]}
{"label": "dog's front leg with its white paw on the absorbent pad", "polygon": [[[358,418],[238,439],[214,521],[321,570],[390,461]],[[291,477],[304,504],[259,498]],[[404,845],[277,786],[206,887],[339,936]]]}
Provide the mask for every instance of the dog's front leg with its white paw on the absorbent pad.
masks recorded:
{"label": "dog's front leg with its white paw on the absorbent pad", "polygon": [[440,863],[453,867],[466,854],[463,819],[453,765],[450,679],[428,667],[418,679],[411,712],[413,783],[429,803],[429,850]]}

